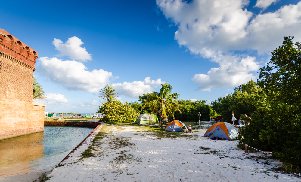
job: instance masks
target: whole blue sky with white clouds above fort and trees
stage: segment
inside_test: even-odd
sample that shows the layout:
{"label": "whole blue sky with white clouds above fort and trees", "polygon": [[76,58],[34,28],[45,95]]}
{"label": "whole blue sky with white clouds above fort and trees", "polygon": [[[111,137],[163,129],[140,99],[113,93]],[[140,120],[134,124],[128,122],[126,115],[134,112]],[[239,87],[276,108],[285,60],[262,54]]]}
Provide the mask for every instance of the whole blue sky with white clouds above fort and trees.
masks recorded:
{"label": "whole blue sky with white clouds above fort and trees", "polygon": [[180,99],[215,100],[256,79],[284,36],[301,41],[293,0],[15,1],[0,17],[39,53],[46,112],[95,112],[106,84],[122,102],[165,82]]}

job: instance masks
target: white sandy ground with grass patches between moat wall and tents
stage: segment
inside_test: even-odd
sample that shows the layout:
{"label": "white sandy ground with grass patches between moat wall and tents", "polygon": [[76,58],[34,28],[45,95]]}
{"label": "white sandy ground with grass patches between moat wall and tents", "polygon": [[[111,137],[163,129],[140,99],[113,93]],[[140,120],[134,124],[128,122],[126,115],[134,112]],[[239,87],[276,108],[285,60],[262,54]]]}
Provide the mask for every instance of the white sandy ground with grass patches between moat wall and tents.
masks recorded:
{"label": "white sandy ground with grass patches between moat wall and tents", "polygon": [[271,171],[279,161],[256,159],[260,153],[237,150],[237,141],[203,137],[206,130],[186,134],[194,135],[193,139],[158,139],[133,126],[110,127],[93,150],[97,157],[80,159],[91,144],[87,140],[63,162],[64,166],[49,174],[53,177],[48,181],[301,181]]}

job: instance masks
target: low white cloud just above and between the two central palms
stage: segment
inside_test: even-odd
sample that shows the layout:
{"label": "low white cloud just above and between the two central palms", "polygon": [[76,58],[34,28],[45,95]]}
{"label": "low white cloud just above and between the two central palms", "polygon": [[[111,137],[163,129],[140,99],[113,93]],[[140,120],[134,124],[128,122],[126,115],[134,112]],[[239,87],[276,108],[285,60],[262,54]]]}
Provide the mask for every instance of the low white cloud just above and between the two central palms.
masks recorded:
{"label": "low white cloud just above and between the two central palms", "polygon": [[144,81],[133,81],[133,82],[123,82],[123,83],[114,83],[116,92],[118,95],[124,95],[130,98],[136,98],[138,95],[142,95],[147,92],[153,91],[153,87],[157,87],[158,85],[165,83],[161,81],[161,78],[156,81],[151,80],[150,77],[146,77]]}

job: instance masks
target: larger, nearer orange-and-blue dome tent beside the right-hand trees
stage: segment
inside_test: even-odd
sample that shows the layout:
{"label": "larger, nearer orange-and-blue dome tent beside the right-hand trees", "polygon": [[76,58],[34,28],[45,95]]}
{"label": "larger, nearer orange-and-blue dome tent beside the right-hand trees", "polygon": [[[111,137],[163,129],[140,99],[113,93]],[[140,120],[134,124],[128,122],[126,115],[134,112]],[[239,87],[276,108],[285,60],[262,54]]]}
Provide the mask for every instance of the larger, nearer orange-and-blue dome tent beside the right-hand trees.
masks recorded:
{"label": "larger, nearer orange-and-blue dome tent beside the right-hand trees", "polygon": [[230,123],[218,122],[212,125],[209,129],[207,129],[204,136],[209,138],[215,136],[219,138],[224,138],[226,140],[235,140],[236,136],[238,135],[238,132],[238,129]]}

